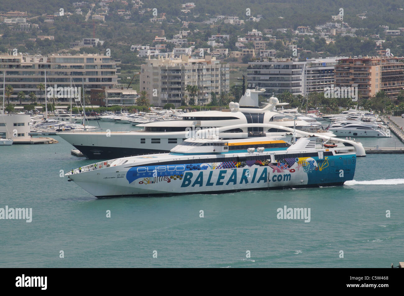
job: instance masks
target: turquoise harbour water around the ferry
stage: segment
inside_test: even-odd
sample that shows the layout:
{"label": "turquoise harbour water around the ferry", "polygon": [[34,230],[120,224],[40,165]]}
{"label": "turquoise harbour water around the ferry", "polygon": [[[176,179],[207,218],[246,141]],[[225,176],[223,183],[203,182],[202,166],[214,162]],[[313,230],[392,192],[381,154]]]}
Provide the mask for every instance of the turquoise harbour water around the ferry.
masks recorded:
{"label": "turquoise harbour water around the ferry", "polygon": [[[388,268],[403,260],[404,154],[358,157],[355,181],[342,187],[97,199],[59,177],[91,161],[52,137],[59,144],[0,147],[0,207],[33,216],[0,220],[0,267]],[[398,142],[364,139],[390,146],[383,140]],[[310,208],[310,222],[277,219],[284,206]]]}

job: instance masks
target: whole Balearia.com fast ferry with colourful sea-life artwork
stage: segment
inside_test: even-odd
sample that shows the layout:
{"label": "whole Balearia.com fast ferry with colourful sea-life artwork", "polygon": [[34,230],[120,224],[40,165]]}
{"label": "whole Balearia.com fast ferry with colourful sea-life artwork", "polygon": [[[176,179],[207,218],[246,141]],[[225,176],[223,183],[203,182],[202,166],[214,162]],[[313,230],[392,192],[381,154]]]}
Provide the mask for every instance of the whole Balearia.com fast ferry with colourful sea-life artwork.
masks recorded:
{"label": "whole Balearia.com fast ferry with colourful sea-life artwork", "polygon": [[117,158],[65,176],[96,197],[335,186],[352,180],[357,154],[366,155],[360,143],[338,139],[351,146],[326,148],[330,137],[302,131],[291,144],[281,137],[197,136],[169,153]]}

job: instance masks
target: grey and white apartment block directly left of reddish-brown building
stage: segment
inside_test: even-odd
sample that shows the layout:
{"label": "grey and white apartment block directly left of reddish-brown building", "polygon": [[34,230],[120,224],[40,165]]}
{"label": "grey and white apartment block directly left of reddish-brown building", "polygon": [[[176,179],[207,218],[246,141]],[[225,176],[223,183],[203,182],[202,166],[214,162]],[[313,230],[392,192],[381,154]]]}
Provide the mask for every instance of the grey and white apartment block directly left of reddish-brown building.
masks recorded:
{"label": "grey and white apartment block directly left of reddish-brown building", "polygon": [[324,91],[334,83],[334,67],[337,57],[325,59],[275,59],[248,62],[247,82],[253,87],[265,88],[265,95],[305,95],[308,92]]}

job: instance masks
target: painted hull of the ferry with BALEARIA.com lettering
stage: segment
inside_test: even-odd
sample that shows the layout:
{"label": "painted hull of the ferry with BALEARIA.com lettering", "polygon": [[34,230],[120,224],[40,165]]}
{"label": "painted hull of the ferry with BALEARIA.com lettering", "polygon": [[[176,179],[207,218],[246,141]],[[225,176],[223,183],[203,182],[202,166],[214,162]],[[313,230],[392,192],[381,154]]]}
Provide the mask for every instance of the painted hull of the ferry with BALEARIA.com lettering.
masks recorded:
{"label": "painted hull of the ferry with BALEARIA.com lettering", "polygon": [[[152,157],[149,157],[152,158]],[[343,185],[353,180],[355,154],[244,162],[114,166],[69,175],[96,197],[225,193]]]}

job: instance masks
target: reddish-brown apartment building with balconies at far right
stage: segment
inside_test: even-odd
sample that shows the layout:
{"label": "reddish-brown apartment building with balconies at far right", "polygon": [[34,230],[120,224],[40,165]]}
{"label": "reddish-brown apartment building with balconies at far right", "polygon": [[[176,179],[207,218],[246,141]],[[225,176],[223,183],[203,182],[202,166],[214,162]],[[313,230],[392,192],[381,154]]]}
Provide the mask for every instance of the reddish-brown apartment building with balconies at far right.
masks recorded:
{"label": "reddish-brown apartment building with balconies at far right", "polygon": [[357,86],[365,99],[379,90],[396,98],[404,87],[404,60],[387,57],[340,59],[335,66],[335,86]]}

